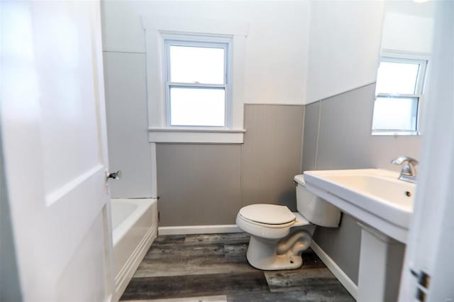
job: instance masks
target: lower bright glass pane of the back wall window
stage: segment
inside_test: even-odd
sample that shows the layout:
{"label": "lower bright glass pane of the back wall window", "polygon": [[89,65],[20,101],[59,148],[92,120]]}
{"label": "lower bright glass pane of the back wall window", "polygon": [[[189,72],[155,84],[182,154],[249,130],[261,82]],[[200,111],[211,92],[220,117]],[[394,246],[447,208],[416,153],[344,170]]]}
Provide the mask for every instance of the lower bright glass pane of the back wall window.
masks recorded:
{"label": "lower bright glass pane of the back wall window", "polygon": [[170,88],[170,125],[225,125],[224,89]]}

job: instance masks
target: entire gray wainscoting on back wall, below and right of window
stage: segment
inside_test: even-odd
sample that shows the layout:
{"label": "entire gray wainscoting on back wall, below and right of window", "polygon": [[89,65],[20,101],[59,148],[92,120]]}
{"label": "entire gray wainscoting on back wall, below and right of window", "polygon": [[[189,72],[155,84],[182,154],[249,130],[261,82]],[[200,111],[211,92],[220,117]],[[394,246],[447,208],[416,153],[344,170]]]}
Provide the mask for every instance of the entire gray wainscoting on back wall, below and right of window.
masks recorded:
{"label": "entire gray wainscoting on back wall, below and right of window", "polygon": [[296,208],[303,106],[245,105],[243,145],[157,144],[160,226],[234,224],[252,203]]}

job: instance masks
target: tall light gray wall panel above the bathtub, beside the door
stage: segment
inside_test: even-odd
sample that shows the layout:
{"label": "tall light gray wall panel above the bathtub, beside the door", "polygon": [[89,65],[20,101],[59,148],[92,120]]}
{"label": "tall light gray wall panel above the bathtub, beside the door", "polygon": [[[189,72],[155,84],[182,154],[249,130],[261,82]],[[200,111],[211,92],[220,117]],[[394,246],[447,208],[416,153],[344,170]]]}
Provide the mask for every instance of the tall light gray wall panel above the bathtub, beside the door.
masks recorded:
{"label": "tall light gray wall panel above the bathtub, beside the door", "polygon": [[145,54],[104,52],[107,136],[113,198],[151,197]]}

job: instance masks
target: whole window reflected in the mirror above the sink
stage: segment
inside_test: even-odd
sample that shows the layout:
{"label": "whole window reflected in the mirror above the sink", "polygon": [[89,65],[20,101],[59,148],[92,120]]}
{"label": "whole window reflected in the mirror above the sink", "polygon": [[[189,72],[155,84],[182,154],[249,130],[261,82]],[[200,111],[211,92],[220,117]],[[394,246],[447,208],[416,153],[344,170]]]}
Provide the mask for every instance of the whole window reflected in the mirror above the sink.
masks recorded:
{"label": "whole window reflected in the mirror above the sink", "polygon": [[382,57],[372,133],[416,134],[427,60]]}

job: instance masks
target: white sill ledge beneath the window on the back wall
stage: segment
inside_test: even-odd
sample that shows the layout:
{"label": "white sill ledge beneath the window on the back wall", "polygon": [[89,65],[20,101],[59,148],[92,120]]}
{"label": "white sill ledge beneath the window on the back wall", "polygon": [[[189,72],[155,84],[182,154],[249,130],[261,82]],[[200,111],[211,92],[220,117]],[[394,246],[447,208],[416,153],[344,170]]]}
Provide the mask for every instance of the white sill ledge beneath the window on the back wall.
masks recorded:
{"label": "white sill ledge beneath the window on the back wall", "polygon": [[243,144],[244,129],[149,128],[149,142]]}

